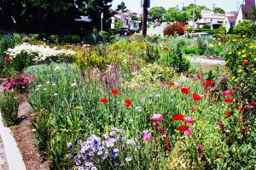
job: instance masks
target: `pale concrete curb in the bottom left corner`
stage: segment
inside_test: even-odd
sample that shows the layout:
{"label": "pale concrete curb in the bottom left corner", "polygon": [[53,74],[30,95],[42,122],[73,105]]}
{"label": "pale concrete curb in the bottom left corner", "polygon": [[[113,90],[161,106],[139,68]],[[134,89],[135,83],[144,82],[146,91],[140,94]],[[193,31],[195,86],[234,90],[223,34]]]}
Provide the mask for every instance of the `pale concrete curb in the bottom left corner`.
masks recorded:
{"label": "pale concrete curb in the bottom left corner", "polygon": [[3,140],[3,147],[9,170],[26,170],[25,163],[20,150],[9,127],[3,126],[0,112],[0,135]]}

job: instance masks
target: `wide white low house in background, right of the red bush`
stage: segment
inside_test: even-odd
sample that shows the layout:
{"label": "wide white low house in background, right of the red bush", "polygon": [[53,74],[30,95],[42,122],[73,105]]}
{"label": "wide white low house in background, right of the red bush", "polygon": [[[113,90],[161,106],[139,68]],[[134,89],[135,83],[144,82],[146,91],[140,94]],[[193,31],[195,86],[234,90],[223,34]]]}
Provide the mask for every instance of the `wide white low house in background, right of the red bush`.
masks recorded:
{"label": "wide white low house in background, right of the red bush", "polygon": [[203,26],[211,26],[211,29],[218,29],[223,25],[225,14],[214,14],[211,10],[201,11],[201,20],[195,21],[195,28],[202,28]]}

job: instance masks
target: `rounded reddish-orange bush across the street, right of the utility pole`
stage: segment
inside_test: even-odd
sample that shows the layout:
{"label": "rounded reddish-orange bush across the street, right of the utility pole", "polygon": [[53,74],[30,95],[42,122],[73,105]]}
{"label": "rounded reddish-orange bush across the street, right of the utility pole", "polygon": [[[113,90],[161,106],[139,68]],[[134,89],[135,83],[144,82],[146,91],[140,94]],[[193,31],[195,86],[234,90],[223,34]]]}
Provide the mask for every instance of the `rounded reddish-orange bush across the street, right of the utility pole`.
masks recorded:
{"label": "rounded reddish-orange bush across the street, right of the utility pole", "polygon": [[185,26],[179,22],[176,22],[170,26],[166,26],[164,30],[164,36],[173,36],[175,32],[177,32],[179,36],[182,36],[185,33]]}

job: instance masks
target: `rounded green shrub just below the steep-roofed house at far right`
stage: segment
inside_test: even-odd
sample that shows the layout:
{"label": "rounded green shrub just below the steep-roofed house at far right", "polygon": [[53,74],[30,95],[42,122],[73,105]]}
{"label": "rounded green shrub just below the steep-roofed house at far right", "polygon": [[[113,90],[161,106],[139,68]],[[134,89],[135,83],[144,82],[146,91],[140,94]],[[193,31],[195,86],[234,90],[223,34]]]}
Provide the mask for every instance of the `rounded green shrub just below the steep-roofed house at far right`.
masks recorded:
{"label": "rounded green shrub just below the steep-roofed house at far right", "polygon": [[243,20],[237,26],[234,27],[233,33],[240,36],[254,36],[256,32],[253,23],[247,20]]}

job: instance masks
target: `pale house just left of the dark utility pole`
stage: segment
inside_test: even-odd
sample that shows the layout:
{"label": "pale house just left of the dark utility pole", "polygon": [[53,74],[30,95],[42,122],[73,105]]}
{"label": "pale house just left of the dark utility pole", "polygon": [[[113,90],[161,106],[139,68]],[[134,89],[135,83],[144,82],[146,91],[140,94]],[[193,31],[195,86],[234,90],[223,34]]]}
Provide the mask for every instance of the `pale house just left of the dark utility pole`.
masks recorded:
{"label": "pale house just left of the dark utility pole", "polygon": [[113,17],[115,20],[121,20],[125,27],[129,28],[138,28],[141,24],[140,20],[131,20],[131,14],[126,12],[120,12],[118,14],[114,14]]}

